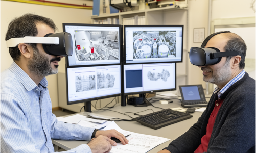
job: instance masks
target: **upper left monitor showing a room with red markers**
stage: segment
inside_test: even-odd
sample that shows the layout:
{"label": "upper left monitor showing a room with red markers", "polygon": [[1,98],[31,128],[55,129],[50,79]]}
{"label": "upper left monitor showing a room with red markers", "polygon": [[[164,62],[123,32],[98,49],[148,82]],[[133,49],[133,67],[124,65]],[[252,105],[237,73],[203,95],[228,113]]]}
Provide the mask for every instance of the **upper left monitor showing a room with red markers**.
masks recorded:
{"label": "upper left monitor showing a room with red markers", "polygon": [[71,33],[74,47],[67,66],[121,63],[121,25],[63,23],[63,32]]}

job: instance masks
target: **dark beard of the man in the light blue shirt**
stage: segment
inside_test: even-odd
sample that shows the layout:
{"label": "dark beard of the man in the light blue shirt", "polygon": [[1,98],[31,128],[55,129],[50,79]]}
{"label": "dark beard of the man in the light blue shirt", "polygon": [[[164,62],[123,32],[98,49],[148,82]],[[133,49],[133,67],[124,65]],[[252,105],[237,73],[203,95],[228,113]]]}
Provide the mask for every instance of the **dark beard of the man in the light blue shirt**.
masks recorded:
{"label": "dark beard of the man in the light blue shirt", "polygon": [[52,68],[51,62],[60,61],[60,58],[56,57],[49,60],[46,56],[40,54],[39,50],[36,47],[33,47],[33,50],[34,56],[27,64],[28,69],[32,74],[40,77],[45,77],[58,73],[59,65],[54,65],[55,68]]}

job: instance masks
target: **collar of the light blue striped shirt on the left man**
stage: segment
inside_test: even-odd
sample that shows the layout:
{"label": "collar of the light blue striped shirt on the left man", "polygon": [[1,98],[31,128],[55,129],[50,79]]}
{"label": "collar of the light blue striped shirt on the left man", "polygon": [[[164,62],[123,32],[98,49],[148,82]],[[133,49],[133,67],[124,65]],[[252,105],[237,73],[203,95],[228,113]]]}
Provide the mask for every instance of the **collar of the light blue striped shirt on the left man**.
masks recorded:
{"label": "collar of the light blue striped shirt on the left man", "polygon": [[[22,70],[15,62],[12,63],[9,69],[17,76],[18,80],[28,91],[31,91],[32,89],[37,87],[36,83],[29,77],[29,75],[24,70]],[[39,84],[44,88],[47,88],[48,81],[45,77],[43,77]]]}

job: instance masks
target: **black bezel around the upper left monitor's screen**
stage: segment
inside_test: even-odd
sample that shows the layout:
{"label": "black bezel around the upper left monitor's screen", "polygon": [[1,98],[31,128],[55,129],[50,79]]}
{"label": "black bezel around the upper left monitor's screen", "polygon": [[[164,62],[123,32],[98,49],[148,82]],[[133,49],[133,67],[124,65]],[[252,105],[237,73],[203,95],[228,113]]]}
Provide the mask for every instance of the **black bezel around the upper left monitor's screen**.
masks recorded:
{"label": "black bezel around the upper left monitor's screen", "polygon": [[[123,61],[123,27],[122,25],[117,24],[83,24],[83,23],[62,23],[63,32],[66,32],[66,26],[88,26],[88,27],[119,27],[119,63],[112,63],[112,64],[92,64],[92,66],[104,66],[104,65],[121,65]],[[69,65],[68,56],[65,57],[66,66],[68,68],[71,67],[87,67],[91,65]]]}

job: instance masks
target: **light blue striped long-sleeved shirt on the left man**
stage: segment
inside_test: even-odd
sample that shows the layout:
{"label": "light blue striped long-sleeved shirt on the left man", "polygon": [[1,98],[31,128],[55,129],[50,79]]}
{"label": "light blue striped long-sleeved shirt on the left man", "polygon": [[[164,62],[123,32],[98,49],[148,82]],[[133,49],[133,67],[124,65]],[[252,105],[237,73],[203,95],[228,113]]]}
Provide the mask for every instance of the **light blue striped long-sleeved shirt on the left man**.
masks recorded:
{"label": "light blue striped long-sleeved shirt on the left man", "polygon": [[[0,152],[54,152],[51,139],[91,140],[94,128],[58,121],[45,77],[37,86],[15,62],[0,73]],[[82,144],[66,152],[91,152]]]}

